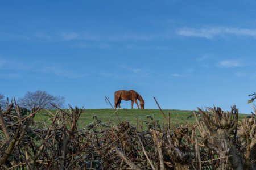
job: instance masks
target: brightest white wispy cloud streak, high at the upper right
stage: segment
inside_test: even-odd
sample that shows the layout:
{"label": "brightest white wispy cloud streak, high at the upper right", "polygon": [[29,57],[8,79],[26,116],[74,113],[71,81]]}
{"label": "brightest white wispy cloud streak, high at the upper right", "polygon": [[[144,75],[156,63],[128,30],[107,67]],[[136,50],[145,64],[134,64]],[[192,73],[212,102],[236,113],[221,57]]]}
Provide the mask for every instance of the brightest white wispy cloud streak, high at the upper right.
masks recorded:
{"label": "brightest white wispy cloud streak, high at the upper right", "polygon": [[217,36],[234,35],[256,37],[256,29],[234,28],[234,27],[208,27],[208,28],[181,28],[176,31],[180,36],[202,37],[213,39]]}

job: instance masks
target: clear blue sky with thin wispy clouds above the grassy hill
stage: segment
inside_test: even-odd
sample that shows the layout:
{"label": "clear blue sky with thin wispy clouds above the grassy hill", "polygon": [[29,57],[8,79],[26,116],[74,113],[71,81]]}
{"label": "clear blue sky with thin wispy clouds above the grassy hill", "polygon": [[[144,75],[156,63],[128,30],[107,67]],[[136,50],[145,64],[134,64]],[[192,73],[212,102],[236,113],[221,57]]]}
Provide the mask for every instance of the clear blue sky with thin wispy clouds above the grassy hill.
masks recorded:
{"label": "clear blue sky with thin wispy clouds above the grassy hill", "polygon": [[[110,108],[134,89],[145,108],[236,104],[256,91],[255,1],[1,1],[0,92],[45,90]],[[130,108],[130,101],[122,101]],[[135,107],[136,108],[136,107]]]}

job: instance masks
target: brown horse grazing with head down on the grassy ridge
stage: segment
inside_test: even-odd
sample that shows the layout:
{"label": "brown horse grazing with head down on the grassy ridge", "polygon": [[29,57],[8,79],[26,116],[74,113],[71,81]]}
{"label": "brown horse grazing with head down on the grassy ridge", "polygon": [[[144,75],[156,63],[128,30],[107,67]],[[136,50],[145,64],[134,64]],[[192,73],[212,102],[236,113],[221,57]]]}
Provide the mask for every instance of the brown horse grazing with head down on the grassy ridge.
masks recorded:
{"label": "brown horse grazing with head down on the grassy ridge", "polygon": [[[142,99],[142,96],[139,95],[136,91],[134,90],[118,90],[115,91],[115,109],[117,107],[121,108],[120,103],[121,100],[131,100],[131,108],[133,109],[133,103],[135,102],[138,106],[139,109],[139,105],[141,105],[141,108],[144,109],[144,104],[145,101]],[[139,105],[137,102],[137,99],[139,100]]]}

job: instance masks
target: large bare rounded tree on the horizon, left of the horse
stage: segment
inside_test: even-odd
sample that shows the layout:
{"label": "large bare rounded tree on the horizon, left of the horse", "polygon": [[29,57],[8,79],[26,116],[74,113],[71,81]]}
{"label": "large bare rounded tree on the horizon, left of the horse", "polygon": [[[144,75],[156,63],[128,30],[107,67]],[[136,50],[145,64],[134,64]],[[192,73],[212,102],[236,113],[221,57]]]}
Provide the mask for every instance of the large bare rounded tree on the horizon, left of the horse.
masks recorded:
{"label": "large bare rounded tree on the horizon, left of the horse", "polygon": [[53,105],[61,108],[64,107],[64,104],[65,98],[63,96],[53,96],[42,90],[28,91],[22,99],[19,99],[20,107],[31,110],[34,108],[53,109]]}

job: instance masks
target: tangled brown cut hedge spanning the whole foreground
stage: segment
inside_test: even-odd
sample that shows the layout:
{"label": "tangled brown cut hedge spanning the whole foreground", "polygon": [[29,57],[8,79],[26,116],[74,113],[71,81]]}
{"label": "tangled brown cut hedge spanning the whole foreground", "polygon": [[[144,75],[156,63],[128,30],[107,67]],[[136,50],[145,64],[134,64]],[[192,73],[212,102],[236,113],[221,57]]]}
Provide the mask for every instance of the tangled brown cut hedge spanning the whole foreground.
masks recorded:
{"label": "tangled brown cut hedge spanning the whole foreground", "polygon": [[[15,100],[0,112],[2,169],[255,169],[255,117],[238,126],[238,109],[198,109],[196,123],[176,127],[170,115],[162,126],[148,116],[142,125],[94,122],[79,129],[82,109],[57,109],[51,125],[25,115]],[[86,114],[86,113],[85,113]],[[117,116],[118,117],[118,116]]]}

